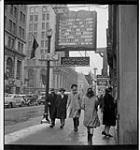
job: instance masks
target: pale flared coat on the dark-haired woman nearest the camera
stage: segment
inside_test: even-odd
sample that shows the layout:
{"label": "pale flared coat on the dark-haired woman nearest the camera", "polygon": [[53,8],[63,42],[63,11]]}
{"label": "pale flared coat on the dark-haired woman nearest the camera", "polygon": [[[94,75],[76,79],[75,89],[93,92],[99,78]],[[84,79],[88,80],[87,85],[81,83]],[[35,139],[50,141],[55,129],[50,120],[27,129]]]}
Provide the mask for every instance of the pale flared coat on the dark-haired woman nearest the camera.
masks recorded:
{"label": "pale flared coat on the dark-haired woman nearest the camera", "polygon": [[84,109],[84,126],[96,128],[100,126],[100,121],[97,114],[97,98],[84,96],[82,100],[82,109]]}

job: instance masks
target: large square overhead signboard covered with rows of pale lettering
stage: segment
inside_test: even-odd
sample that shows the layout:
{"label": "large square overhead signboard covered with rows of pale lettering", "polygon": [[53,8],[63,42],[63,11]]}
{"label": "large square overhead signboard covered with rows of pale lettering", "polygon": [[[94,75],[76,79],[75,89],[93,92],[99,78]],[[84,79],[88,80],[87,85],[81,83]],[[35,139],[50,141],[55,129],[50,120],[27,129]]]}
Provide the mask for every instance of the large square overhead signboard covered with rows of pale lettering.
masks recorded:
{"label": "large square overhead signboard covered with rows of pale lettering", "polygon": [[96,50],[97,13],[70,11],[57,19],[56,51]]}

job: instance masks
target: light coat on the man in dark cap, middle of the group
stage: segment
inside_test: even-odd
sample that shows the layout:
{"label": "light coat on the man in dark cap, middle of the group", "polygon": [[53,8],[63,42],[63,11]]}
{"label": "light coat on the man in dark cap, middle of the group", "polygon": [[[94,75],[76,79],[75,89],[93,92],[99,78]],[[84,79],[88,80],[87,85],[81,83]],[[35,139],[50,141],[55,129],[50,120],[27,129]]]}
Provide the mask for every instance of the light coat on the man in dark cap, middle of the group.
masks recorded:
{"label": "light coat on the man in dark cap, middle of the group", "polygon": [[[69,118],[79,118],[81,114],[82,98],[79,93],[71,93],[68,97]],[[67,107],[68,107],[67,106]]]}

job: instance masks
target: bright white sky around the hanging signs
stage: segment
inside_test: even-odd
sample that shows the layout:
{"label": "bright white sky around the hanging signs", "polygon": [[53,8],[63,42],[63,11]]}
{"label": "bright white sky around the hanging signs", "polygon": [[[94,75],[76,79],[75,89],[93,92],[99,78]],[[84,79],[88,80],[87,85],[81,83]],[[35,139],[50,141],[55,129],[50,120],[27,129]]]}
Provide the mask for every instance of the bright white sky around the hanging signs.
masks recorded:
{"label": "bright white sky around the hanging signs", "polygon": [[[106,29],[108,26],[108,6],[107,5],[68,5],[69,10],[89,10],[97,12],[97,48],[106,47]],[[85,52],[70,52],[70,56],[85,56]],[[89,67],[76,67],[76,71],[88,74],[90,71],[94,73],[93,69],[97,68],[97,74],[101,74],[103,66],[103,59],[94,51],[88,51],[86,56],[90,56]]]}

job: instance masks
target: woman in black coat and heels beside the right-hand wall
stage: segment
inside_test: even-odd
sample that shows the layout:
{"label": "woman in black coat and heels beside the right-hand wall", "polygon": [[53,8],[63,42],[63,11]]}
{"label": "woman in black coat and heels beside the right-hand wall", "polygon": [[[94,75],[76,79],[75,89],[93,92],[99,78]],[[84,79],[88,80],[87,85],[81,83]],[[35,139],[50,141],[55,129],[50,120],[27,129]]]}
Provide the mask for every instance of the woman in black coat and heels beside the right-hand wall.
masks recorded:
{"label": "woman in black coat and heels beside the right-hand wall", "polygon": [[111,92],[112,88],[106,89],[103,102],[103,125],[105,128],[102,134],[109,137],[113,137],[109,134],[110,127],[116,125],[116,105]]}

